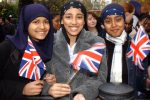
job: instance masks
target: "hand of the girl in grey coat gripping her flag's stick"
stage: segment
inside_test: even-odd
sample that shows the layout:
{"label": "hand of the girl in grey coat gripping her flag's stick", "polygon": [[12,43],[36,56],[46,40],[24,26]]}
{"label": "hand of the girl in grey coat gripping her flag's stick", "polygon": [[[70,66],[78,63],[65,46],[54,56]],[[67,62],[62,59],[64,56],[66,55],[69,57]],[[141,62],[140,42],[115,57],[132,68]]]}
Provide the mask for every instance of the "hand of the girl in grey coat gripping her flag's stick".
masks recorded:
{"label": "hand of the girl in grey coat gripping her flag's stick", "polygon": [[62,83],[55,83],[53,84],[48,93],[49,95],[57,98],[57,97],[63,97],[65,95],[70,94],[71,88],[68,84],[62,84]]}

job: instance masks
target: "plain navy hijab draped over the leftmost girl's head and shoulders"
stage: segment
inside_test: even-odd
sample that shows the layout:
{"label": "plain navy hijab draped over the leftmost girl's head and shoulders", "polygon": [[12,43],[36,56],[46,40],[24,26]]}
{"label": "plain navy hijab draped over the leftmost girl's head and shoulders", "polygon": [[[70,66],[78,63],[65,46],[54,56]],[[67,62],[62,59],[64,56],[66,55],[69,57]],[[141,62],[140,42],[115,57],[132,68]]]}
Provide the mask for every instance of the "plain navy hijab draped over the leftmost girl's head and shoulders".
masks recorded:
{"label": "plain navy hijab draped over the leftmost girl's head and shoulders", "polygon": [[14,36],[7,36],[6,39],[10,40],[16,46],[16,48],[18,48],[20,52],[23,53],[28,44],[27,37],[29,36],[29,24],[37,17],[45,17],[50,22],[50,31],[44,40],[36,42],[31,38],[35,49],[39,53],[42,60],[45,62],[51,59],[53,47],[52,17],[50,16],[50,13],[45,6],[41,4],[30,4],[24,6],[20,13],[16,34]]}

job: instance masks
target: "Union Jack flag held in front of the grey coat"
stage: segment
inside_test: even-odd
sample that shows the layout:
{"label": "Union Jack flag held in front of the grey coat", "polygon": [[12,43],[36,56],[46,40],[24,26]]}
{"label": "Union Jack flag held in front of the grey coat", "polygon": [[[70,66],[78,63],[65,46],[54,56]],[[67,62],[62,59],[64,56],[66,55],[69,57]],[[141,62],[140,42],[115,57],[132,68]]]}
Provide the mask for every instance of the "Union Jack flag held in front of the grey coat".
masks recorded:
{"label": "Union Jack flag held in front of the grey coat", "polygon": [[91,48],[83,50],[73,56],[71,64],[75,70],[83,68],[92,73],[98,73],[99,65],[102,61],[105,44],[96,43]]}

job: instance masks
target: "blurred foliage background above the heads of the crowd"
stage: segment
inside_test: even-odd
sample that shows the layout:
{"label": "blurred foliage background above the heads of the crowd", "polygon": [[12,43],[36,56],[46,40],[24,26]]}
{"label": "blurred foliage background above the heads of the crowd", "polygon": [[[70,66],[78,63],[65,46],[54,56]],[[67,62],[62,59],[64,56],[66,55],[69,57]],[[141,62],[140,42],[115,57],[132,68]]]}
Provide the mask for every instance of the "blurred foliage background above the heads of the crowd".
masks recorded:
{"label": "blurred foliage background above the heads of the crowd", "polygon": [[[42,3],[48,7],[52,13],[59,13],[60,7],[69,0],[0,0],[0,16],[4,18],[12,17],[14,21],[17,21],[20,9],[30,3]],[[116,2],[129,2],[130,0],[77,0],[82,2],[88,11],[93,11],[96,14],[100,14],[101,10],[109,3]],[[134,1],[134,0],[133,0]],[[141,4],[149,5],[150,0],[135,0]]]}

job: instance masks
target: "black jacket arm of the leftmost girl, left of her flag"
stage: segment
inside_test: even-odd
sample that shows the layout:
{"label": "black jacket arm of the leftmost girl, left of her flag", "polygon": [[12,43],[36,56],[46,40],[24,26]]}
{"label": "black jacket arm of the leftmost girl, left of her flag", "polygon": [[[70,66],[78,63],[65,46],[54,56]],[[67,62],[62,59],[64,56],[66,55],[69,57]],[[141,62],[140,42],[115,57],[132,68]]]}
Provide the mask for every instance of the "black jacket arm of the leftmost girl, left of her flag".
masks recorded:
{"label": "black jacket arm of the leftmost girl, left of her flag", "polygon": [[18,76],[22,54],[9,42],[0,44],[0,100],[22,100],[23,87],[31,80]]}

